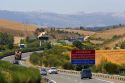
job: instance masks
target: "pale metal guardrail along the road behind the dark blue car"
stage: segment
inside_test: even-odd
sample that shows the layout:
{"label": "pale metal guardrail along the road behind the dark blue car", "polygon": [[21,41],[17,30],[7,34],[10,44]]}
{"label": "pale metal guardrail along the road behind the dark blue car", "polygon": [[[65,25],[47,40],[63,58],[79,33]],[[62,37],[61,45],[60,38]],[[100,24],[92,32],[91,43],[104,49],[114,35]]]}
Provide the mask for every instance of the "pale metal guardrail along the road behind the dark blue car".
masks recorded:
{"label": "pale metal guardrail along the road behind the dark blue car", "polygon": [[[80,71],[74,71],[74,70],[58,69],[58,72],[71,74],[71,75],[80,75]],[[120,75],[109,75],[109,74],[102,74],[102,73],[92,73],[92,75],[94,77],[102,77],[102,78],[125,81],[125,76],[120,76]]]}

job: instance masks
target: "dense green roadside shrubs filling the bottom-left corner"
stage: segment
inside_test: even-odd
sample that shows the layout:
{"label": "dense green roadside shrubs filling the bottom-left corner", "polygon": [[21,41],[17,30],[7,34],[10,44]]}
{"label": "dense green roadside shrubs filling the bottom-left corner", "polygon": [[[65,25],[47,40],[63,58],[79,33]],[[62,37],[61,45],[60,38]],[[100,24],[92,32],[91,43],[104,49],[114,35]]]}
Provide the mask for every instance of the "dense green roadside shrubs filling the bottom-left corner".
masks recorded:
{"label": "dense green roadside shrubs filling the bottom-left corner", "polygon": [[40,83],[39,70],[0,61],[1,83]]}

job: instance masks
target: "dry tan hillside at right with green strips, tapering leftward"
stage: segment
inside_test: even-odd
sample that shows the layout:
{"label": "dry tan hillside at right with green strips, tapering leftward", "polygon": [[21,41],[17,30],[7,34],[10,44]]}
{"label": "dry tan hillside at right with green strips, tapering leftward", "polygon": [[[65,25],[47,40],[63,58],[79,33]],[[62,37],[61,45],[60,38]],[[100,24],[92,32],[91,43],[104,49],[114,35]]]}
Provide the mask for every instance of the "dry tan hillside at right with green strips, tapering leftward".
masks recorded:
{"label": "dry tan hillside at right with green strips, tapering leftward", "polygon": [[104,31],[85,31],[79,29],[60,29],[63,31],[79,33],[81,35],[89,35],[90,42],[93,44],[101,44],[100,48],[105,47],[114,48],[116,44],[125,41],[125,27],[112,28]]}

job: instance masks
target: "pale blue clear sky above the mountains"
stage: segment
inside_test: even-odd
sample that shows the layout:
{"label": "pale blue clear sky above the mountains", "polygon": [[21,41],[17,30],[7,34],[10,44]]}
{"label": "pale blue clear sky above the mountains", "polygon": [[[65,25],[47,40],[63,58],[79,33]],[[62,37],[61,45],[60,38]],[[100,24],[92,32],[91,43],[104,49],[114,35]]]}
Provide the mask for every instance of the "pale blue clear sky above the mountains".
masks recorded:
{"label": "pale blue clear sky above the mountains", "polygon": [[0,0],[0,10],[78,12],[125,12],[125,0]]}

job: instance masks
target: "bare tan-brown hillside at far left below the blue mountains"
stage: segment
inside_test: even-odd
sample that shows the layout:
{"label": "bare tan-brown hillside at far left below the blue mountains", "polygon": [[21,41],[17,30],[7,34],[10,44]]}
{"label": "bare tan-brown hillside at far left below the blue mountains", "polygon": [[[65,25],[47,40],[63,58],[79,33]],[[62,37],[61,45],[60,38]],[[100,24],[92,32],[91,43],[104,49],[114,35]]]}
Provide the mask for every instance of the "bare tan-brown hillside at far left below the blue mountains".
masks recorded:
{"label": "bare tan-brown hillside at far left below the blue mountains", "polygon": [[0,19],[0,32],[11,33],[14,36],[28,36],[36,30],[35,26]]}

